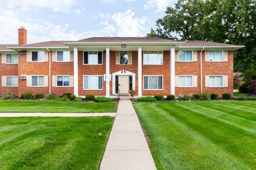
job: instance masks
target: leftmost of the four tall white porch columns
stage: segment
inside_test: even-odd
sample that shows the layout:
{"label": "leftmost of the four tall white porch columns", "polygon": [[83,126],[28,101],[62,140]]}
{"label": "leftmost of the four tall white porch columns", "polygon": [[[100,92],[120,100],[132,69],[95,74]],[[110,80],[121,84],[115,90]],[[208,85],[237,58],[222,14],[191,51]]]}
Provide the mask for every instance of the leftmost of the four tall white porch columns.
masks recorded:
{"label": "leftmost of the four tall white porch columns", "polygon": [[74,48],[74,95],[78,96],[78,52]]}

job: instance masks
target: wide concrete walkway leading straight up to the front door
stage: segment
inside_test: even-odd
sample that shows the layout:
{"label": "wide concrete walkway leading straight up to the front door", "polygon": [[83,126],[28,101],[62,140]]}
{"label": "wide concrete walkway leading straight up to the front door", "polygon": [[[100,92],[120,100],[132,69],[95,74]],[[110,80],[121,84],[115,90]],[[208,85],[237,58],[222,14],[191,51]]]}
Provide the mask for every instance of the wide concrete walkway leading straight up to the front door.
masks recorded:
{"label": "wide concrete walkway leading straight up to the front door", "polygon": [[100,169],[156,169],[130,100],[119,101]]}

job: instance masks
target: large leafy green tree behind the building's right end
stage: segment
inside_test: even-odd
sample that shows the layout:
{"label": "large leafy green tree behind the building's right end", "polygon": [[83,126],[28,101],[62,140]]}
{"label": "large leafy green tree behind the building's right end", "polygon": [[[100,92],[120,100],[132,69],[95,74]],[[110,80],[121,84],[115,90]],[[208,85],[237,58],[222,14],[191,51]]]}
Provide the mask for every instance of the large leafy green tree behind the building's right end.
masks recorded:
{"label": "large leafy green tree behind the building's right end", "polygon": [[255,72],[255,21],[256,0],[178,0],[147,36],[245,45],[234,53],[234,70]]}

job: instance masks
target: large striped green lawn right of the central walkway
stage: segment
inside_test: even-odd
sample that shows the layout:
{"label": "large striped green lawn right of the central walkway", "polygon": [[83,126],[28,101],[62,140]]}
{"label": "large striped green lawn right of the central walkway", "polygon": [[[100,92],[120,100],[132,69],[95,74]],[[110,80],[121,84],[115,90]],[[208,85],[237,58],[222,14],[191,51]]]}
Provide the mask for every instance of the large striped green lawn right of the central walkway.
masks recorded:
{"label": "large striped green lawn right of the central walkway", "polygon": [[133,106],[158,169],[256,169],[256,102]]}

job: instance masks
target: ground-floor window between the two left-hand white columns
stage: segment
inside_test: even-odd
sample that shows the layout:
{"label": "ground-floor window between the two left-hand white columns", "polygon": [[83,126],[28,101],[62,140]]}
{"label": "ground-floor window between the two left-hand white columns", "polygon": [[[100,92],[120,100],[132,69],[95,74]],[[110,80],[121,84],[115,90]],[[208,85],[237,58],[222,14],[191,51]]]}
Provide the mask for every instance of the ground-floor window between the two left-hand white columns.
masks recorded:
{"label": "ground-floor window between the two left-hand white columns", "polygon": [[101,90],[102,89],[102,75],[85,75],[84,76],[85,90]]}

